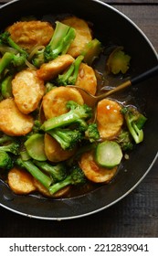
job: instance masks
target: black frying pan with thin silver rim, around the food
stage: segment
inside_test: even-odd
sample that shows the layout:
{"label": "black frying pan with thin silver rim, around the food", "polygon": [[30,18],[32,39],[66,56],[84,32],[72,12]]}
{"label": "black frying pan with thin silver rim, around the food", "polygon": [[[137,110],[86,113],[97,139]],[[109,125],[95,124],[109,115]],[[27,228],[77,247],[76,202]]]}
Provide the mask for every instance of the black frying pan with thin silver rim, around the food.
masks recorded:
{"label": "black frying pan with thin silver rim, around the food", "polygon": [[[111,43],[123,46],[132,56],[132,77],[158,64],[150,41],[130,19],[119,11],[94,0],[17,0],[0,8],[0,28],[7,27],[21,16],[58,16],[73,14],[93,23],[95,37],[104,46]],[[0,181],[0,204],[16,213],[38,219],[74,219],[108,208],[128,195],[151,169],[158,149],[158,78],[138,85],[131,93],[134,101],[146,113],[145,139],[123,163],[116,178],[105,185],[79,197],[66,199],[16,196]]]}

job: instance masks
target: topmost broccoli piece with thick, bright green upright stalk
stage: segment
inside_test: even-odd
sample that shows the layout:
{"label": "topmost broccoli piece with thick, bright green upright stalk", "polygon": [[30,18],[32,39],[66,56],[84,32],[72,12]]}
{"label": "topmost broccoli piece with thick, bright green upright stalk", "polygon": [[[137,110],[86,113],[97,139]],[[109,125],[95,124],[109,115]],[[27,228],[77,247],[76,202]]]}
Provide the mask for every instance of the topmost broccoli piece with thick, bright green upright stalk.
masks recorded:
{"label": "topmost broccoli piece with thick, bright green upright stalk", "polygon": [[44,50],[47,61],[56,59],[58,55],[65,54],[76,36],[75,29],[57,21],[56,29],[49,44]]}

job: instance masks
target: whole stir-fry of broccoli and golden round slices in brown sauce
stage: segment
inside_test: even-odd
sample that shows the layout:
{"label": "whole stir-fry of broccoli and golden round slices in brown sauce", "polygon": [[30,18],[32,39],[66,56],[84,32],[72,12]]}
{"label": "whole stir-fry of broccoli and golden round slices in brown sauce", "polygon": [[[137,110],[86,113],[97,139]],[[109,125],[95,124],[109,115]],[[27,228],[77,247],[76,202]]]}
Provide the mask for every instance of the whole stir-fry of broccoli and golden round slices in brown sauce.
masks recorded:
{"label": "whole stir-fry of broccoli and golden round slices in brown sauce", "polygon": [[124,48],[104,52],[77,16],[28,18],[1,31],[0,176],[15,194],[73,197],[109,184],[142,143],[146,117],[136,106],[115,98],[93,106],[84,92],[100,94],[106,74],[130,69]]}

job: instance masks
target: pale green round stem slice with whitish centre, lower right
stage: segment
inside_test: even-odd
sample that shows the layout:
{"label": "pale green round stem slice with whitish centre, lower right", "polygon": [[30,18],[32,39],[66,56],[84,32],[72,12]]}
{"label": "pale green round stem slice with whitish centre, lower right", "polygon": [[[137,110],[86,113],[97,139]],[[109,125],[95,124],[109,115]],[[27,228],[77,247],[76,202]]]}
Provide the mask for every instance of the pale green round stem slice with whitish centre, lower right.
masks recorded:
{"label": "pale green round stem slice with whitish centre, lower right", "polygon": [[116,142],[104,141],[96,147],[95,159],[100,166],[111,169],[120,165],[121,158],[121,147]]}

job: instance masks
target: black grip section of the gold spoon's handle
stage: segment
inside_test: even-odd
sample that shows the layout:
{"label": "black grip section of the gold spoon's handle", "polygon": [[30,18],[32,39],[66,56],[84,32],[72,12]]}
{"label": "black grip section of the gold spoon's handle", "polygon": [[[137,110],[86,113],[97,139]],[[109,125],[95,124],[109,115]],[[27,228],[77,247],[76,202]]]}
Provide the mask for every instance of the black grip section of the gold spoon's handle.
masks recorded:
{"label": "black grip section of the gold spoon's handle", "polygon": [[153,67],[152,69],[149,69],[149,70],[143,72],[142,74],[136,76],[135,78],[132,78],[131,83],[132,83],[132,85],[134,85],[143,80],[148,80],[156,75],[158,75],[158,65]]}

